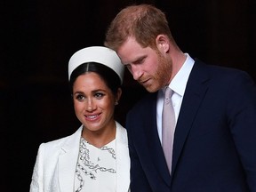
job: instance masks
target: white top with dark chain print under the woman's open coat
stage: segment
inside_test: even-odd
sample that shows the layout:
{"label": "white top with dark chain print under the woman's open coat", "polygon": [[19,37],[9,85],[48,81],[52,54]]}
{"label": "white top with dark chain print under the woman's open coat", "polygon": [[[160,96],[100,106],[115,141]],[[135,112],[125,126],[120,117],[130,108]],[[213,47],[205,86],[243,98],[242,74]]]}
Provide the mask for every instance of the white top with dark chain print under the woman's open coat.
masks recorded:
{"label": "white top with dark chain print under the woman's open coat", "polygon": [[116,191],[116,140],[96,148],[81,137],[75,191]]}

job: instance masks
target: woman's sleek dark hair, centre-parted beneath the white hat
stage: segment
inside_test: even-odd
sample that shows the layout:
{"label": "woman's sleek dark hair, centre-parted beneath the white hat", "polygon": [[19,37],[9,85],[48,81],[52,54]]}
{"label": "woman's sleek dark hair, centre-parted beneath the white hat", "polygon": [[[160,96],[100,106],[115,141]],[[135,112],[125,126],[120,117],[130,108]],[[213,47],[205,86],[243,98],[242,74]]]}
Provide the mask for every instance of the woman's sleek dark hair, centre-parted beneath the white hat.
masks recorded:
{"label": "woman's sleek dark hair, centre-parted beneath the white hat", "polygon": [[73,85],[76,81],[77,76],[81,76],[86,72],[97,73],[105,81],[108,88],[115,95],[117,93],[118,88],[121,87],[121,80],[113,69],[108,68],[107,66],[97,62],[87,62],[75,68],[71,73],[69,80],[69,88],[71,93],[73,92]]}

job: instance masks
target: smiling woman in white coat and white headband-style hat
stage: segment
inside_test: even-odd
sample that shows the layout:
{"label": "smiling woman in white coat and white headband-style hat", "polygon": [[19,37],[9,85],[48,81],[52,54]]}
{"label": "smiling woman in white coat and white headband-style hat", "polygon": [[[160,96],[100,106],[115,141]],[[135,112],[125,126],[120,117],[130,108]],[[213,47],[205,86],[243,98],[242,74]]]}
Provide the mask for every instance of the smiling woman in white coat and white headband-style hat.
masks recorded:
{"label": "smiling woman in white coat and white headband-style hat", "polygon": [[72,135],[40,145],[30,192],[128,191],[127,133],[114,119],[124,66],[116,52],[92,46],[68,62],[76,117]]}

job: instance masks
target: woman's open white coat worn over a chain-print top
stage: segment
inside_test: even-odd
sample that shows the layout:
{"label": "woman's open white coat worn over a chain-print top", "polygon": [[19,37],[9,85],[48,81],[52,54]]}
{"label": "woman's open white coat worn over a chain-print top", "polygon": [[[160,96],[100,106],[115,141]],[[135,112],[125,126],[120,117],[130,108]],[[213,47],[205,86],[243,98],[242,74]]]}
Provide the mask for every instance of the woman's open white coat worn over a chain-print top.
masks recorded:
{"label": "woman's open white coat worn over a chain-print top", "polygon": [[[30,184],[30,192],[73,192],[83,125],[72,135],[42,143]],[[86,184],[85,184],[86,185]],[[116,122],[116,192],[130,186],[127,132]]]}

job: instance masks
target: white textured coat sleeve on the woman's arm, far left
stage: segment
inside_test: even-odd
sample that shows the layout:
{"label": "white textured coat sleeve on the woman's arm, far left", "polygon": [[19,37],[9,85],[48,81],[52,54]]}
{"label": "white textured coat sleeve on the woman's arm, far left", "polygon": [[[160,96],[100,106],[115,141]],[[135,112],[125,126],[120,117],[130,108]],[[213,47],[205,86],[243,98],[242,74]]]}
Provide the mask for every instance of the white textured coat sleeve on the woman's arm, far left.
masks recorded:
{"label": "white textured coat sleeve on the woman's arm, far left", "polygon": [[43,192],[44,191],[43,159],[44,159],[44,143],[42,143],[40,145],[38,152],[37,152],[36,164],[34,166],[29,192]]}

